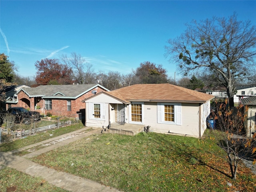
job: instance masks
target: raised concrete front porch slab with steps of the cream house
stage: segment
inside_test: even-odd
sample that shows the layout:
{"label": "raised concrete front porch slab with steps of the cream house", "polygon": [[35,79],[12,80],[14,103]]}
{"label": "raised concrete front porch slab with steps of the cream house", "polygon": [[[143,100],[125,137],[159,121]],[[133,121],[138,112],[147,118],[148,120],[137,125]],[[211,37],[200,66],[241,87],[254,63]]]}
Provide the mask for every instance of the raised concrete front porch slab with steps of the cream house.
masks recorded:
{"label": "raised concrete front porch slab with steps of the cream house", "polygon": [[117,133],[134,136],[144,131],[144,125],[111,123],[109,128],[103,128],[102,133]]}

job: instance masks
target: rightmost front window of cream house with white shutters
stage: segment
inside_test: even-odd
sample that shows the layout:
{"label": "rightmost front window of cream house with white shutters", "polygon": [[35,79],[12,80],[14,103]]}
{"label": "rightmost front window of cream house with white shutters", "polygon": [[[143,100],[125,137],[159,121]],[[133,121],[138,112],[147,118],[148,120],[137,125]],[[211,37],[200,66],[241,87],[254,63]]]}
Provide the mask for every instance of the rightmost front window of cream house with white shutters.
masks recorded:
{"label": "rightmost front window of cream house with white shutters", "polygon": [[157,103],[157,121],[162,124],[181,125],[181,104]]}

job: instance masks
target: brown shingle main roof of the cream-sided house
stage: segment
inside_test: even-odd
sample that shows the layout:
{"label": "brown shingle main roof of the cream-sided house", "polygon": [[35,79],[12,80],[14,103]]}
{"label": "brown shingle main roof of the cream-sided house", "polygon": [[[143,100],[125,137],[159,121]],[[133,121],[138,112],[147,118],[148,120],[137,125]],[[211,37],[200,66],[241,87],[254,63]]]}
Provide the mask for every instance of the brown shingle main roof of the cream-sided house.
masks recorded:
{"label": "brown shingle main roof of the cream-sided house", "polygon": [[206,102],[214,96],[172,84],[135,84],[107,94],[124,101]]}

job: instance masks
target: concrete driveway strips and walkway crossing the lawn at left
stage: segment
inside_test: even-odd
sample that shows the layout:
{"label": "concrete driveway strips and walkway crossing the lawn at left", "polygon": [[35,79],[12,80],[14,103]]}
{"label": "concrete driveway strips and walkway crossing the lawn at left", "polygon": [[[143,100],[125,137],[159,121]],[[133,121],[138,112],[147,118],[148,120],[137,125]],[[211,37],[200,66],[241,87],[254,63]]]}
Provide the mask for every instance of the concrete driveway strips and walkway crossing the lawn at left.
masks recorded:
{"label": "concrete driveway strips and walkway crossing the lawn at left", "polygon": [[[28,160],[28,158],[38,156],[40,154],[53,150],[54,148],[64,146],[66,144],[69,144],[70,142],[74,142],[81,138],[86,138],[93,134],[101,134],[102,130],[102,128],[97,128],[87,132],[87,129],[88,128],[82,128],[80,130],[70,132],[62,136],[54,137],[36,144],[32,144],[30,146],[26,146],[12,152],[1,152],[0,165],[2,167],[8,166],[10,168],[14,168],[31,176],[39,176],[41,178],[44,178],[50,184],[68,190],[70,192],[118,192],[118,190],[114,188],[104,186],[92,180],[74,176],[66,172],[58,172],[52,168],[41,166]],[[40,150],[32,151],[31,153],[26,154],[22,157],[13,154],[15,152],[28,150],[30,148],[40,145],[47,147],[44,147]]]}

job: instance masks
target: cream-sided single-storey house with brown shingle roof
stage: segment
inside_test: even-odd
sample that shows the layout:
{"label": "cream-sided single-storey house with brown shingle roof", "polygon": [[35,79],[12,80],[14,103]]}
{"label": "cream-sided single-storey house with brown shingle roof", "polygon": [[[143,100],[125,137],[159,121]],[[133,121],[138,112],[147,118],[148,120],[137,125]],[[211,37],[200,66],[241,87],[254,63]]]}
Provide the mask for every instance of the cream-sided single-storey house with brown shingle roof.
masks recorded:
{"label": "cream-sided single-storey house with brown shingle roof", "polygon": [[135,84],[86,102],[86,126],[150,126],[150,131],[201,138],[214,96],[172,84]]}

